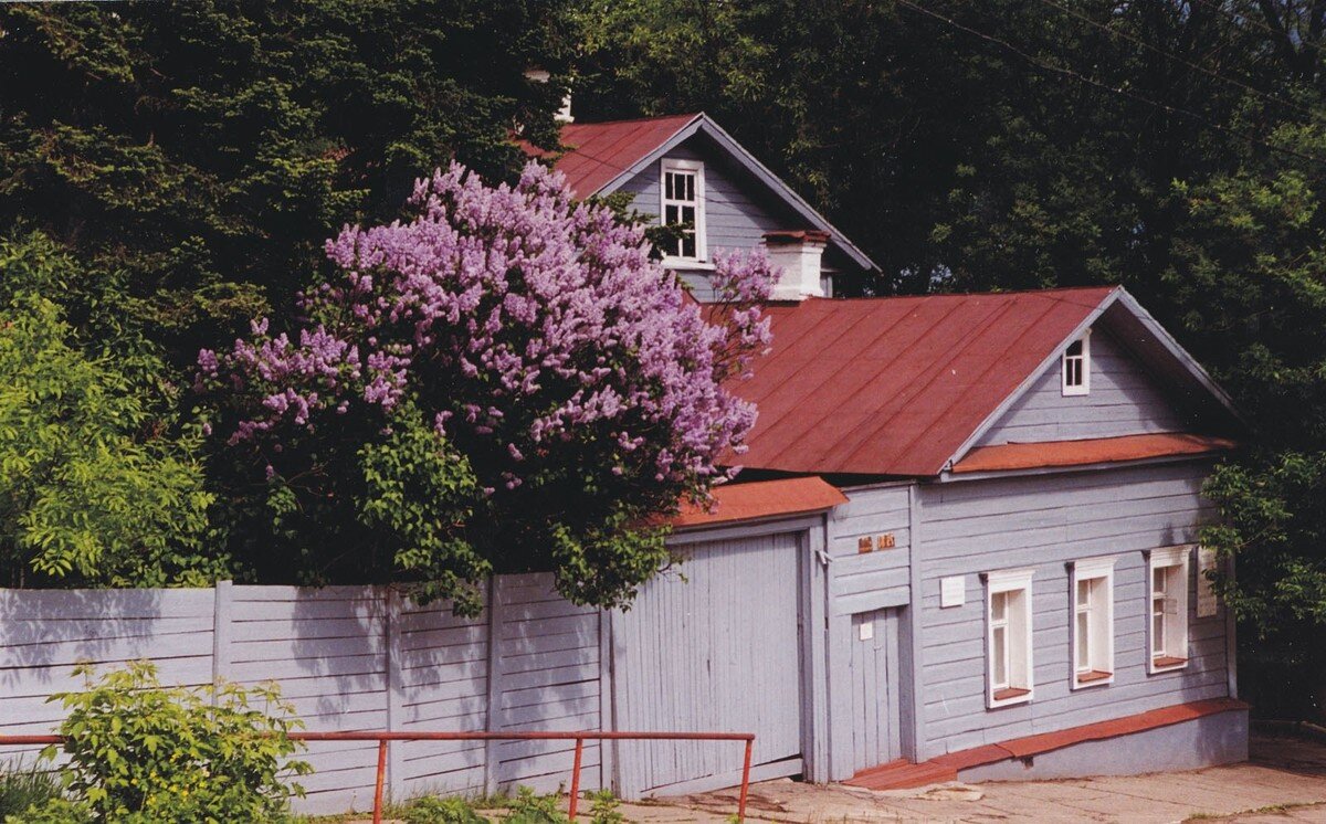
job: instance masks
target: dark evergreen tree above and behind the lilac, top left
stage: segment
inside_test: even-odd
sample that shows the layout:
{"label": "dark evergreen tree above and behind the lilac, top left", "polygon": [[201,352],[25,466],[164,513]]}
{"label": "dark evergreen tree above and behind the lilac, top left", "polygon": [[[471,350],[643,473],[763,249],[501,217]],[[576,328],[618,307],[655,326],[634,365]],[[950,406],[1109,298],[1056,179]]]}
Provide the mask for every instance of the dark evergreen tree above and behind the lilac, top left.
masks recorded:
{"label": "dark evergreen tree above and behind the lilac, top left", "polygon": [[[558,3],[61,3],[0,11],[0,224],[76,249],[176,364],[286,311],[345,223],[459,156],[546,142]],[[77,290],[76,290],[77,291]],[[70,295],[81,323],[89,295]]]}

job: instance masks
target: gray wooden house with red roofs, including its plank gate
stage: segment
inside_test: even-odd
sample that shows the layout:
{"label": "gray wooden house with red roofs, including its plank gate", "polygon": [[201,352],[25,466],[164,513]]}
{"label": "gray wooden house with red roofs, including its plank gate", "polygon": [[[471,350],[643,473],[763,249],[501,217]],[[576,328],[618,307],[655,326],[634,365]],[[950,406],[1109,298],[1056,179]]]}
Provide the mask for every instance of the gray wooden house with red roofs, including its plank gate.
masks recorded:
{"label": "gray wooden house with red roofs, including its plank gate", "polygon": [[[719,246],[784,270],[737,482],[678,519],[684,580],[605,617],[605,726],[753,730],[760,778],[875,788],[1245,758],[1197,546],[1240,420],[1127,291],[829,299],[874,264],[703,114],[564,143],[578,195],[687,224],[664,262],[693,282]],[[603,758],[626,795],[740,766]]]}

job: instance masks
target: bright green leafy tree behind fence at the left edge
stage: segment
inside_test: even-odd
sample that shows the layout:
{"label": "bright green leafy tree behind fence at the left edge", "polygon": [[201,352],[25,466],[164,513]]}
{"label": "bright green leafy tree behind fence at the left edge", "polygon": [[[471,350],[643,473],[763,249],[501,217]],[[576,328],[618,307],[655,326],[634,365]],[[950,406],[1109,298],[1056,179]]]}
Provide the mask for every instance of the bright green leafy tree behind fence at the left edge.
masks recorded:
{"label": "bright green leafy tree behind fence at the left edge", "polygon": [[204,543],[202,437],[163,431],[142,382],[74,342],[42,295],[78,272],[40,234],[0,244],[0,582],[206,583],[224,566]]}

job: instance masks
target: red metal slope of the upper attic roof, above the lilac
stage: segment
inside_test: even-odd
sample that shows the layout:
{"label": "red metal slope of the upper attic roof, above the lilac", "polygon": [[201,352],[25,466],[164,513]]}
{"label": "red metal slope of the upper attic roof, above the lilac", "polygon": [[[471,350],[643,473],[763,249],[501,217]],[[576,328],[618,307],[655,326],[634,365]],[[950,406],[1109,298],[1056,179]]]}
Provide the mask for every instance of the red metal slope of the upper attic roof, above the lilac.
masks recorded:
{"label": "red metal slope of the upper attic roof, above the lilac", "polygon": [[[607,123],[568,123],[562,126],[561,135],[568,151],[557,159],[553,168],[566,175],[566,183],[577,197],[589,197],[697,117],[700,115],[674,114]],[[528,143],[521,147],[537,158],[554,154]]]}

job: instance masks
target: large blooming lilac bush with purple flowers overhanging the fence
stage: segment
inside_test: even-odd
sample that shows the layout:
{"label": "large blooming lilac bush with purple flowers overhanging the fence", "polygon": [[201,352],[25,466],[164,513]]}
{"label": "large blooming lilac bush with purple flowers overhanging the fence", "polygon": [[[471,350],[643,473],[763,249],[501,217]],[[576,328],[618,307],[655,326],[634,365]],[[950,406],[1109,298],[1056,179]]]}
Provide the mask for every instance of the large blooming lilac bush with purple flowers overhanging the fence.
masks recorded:
{"label": "large blooming lilac bush with purple flowers overhanging the fence", "polygon": [[326,579],[460,601],[526,568],[627,599],[666,556],[643,523],[704,499],[754,423],[727,387],[769,342],[768,264],[720,257],[725,303],[705,311],[642,228],[533,163],[497,187],[452,166],[411,205],[328,242],[338,274],[302,295],[298,330],[257,321],[200,352],[216,436],[263,473],[272,527],[237,534]]}

